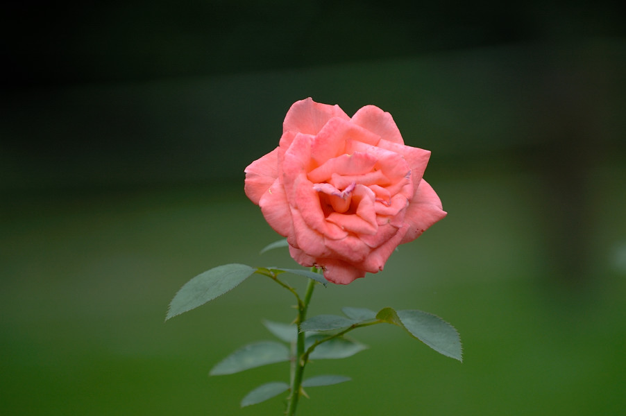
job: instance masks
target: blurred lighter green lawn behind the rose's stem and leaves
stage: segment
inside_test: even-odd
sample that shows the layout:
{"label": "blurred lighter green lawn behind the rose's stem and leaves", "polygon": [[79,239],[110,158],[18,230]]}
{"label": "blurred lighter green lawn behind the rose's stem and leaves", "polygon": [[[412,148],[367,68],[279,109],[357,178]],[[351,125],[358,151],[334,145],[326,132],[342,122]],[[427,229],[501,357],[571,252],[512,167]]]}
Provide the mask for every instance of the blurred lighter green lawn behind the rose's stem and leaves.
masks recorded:
{"label": "blurred lighter green lawn behind the rose's stem and leaves", "polygon": [[[595,173],[598,200],[609,209],[593,246],[604,247],[593,280],[577,289],[544,281],[541,230],[527,226],[532,181],[500,170],[497,178],[487,171],[434,181],[450,216],[401,246],[380,275],[318,288],[310,313],[342,306],[437,313],[460,331],[464,363],[396,327],[355,332],[370,349],[307,369],[354,380],[310,388],[301,413],[618,414],[626,381],[624,225],[609,218],[626,209],[612,191],[623,189],[625,173],[623,166]],[[277,414],[278,398],[244,410],[237,404],[256,385],[285,379],[286,364],[207,374],[244,343],[271,339],[262,319],[291,319],[287,292],[254,277],[163,322],[174,293],[205,268],[293,265],[282,250],[256,254],[276,236],[233,189],[16,202],[2,225],[2,407],[30,415]]]}

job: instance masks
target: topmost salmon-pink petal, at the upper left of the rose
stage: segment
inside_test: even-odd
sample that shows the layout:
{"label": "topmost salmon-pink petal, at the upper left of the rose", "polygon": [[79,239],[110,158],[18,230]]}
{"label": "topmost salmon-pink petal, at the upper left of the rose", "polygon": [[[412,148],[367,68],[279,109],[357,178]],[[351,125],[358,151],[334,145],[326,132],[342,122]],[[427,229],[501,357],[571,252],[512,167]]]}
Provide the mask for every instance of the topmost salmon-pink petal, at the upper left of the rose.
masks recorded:
{"label": "topmost salmon-pink petal, at the upper left of the rose", "polygon": [[339,105],[316,103],[309,97],[291,105],[282,123],[282,131],[316,135],[332,117],[350,119]]}

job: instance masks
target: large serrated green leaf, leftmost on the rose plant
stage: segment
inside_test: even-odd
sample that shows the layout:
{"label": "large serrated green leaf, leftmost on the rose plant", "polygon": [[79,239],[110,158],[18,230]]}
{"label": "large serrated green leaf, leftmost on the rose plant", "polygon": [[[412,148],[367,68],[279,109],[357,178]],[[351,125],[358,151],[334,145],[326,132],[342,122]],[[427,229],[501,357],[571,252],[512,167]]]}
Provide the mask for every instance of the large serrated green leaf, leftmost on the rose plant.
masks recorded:
{"label": "large serrated green leaf, leftmost on the rose plant", "polygon": [[165,320],[191,311],[230,291],[251,277],[255,269],[245,264],[226,264],[197,275],[180,288],[169,304]]}

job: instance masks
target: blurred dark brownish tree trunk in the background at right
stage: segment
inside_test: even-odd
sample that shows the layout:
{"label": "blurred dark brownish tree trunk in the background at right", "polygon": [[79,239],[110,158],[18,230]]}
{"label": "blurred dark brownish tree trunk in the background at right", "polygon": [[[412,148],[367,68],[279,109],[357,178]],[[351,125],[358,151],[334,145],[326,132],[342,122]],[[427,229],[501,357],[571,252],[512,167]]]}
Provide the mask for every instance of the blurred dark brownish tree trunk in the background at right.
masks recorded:
{"label": "blurred dark brownish tree trunk in the background at right", "polygon": [[[594,223],[591,171],[602,153],[597,123],[601,94],[599,74],[559,60],[546,49],[539,61],[534,110],[534,142],[530,158],[541,183],[536,190],[547,260],[547,274],[559,286],[584,288],[591,283]],[[589,62],[587,63],[589,64]],[[592,75],[593,74],[593,75]]]}

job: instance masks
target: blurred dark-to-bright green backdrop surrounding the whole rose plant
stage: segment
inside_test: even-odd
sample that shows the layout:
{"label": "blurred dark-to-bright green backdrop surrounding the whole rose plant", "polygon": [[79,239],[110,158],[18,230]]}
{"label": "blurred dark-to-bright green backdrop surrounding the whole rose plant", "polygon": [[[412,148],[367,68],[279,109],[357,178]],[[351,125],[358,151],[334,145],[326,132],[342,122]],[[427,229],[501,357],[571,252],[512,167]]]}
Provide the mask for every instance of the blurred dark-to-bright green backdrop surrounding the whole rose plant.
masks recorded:
{"label": "blurred dark-to-bright green backdrop surrounding the whole rose plant", "polygon": [[[618,415],[626,408],[626,29],[620,2],[8,1],[1,6],[0,408],[240,409],[276,364],[209,377],[271,339],[269,279],[164,323],[223,263],[287,266],[243,193],[296,100],[393,114],[448,217],[310,313],[422,309],[458,363],[395,327],[317,361],[301,415]],[[303,288],[294,277],[291,282]]]}

